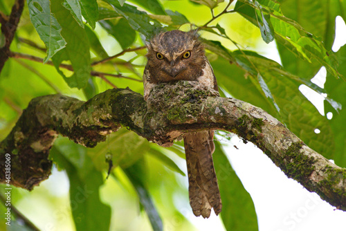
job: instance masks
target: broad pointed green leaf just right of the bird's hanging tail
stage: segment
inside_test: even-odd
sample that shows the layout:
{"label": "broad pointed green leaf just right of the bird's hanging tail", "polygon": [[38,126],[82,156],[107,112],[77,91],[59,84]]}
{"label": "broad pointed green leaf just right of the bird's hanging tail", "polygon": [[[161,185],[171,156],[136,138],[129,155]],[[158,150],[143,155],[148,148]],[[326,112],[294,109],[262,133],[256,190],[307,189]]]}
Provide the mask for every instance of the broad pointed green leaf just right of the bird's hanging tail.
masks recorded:
{"label": "broad pointed green leaf just right of the bird's hanging tail", "polygon": [[226,230],[258,230],[253,200],[235,174],[219,142],[215,142],[212,158],[222,200],[221,219]]}

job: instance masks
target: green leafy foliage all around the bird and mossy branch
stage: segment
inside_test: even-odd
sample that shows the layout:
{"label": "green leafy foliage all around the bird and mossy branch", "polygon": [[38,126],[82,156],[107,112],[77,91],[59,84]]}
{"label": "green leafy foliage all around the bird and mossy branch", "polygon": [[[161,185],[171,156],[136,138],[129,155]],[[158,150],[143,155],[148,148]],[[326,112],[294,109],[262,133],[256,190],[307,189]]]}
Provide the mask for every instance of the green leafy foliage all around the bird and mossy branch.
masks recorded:
{"label": "green leafy foliage all around the bird and mossy branch", "polygon": [[[6,44],[3,28],[15,2],[0,1],[0,48]],[[346,167],[346,46],[331,49],[336,16],[346,21],[345,12],[340,0],[28,0],[0,75],[0,140],[38,96],[63,93],[89,100],[127,86],[143,93],[145,41],[160,28],[199,28],[224,95],[268,111],[309,147]],[[276,45],[281,63],[273,53],[261,51],[269,48],[264,43]],[[324,87],[311,82],[322,66],[327,71]],[[302,94],[302,85],[324,95],[325,113]],[[162,230],[165,217],[183,219],[173,194],[186,190],[172,178],[172,171],[184,175],[177,164],[184,158],[181,143],[169,150],[126,129],[93,149],[58,138],[50,158],[69,176],[71,207],[81,189],[95,192],[72,211],[75,228],[109,228],[111,211],[98,191],[110,162],[116,169],[111,178],[133,187],[154,230]],[[214,158],[217,174],[226,171],[219,180],[226,229],[257,230],[251,197],[219,145]],[[152,168],[164,172],[160,179],[149,177]],[[165,214],[163,198],[170,205]]]}

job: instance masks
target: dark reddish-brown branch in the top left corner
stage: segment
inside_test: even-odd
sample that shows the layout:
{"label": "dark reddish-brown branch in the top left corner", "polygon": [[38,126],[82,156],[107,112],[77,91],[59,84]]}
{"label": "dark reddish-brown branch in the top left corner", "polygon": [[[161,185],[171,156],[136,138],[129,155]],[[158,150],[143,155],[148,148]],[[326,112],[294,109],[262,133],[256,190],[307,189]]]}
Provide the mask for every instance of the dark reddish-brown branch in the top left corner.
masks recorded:
{"label": "dark reddish-brown branch in the top left corner", "polygon": [[12,43],[13,37],[15,37],[15,32],[21,17],[21,12],[23,12],[24,0],[16,0],[12,7],[12,11],[8,20],[1,16],[1,33],[5,36],[6,42],[5,46],[0,48],[0,73],[10,56],[10,45]]}

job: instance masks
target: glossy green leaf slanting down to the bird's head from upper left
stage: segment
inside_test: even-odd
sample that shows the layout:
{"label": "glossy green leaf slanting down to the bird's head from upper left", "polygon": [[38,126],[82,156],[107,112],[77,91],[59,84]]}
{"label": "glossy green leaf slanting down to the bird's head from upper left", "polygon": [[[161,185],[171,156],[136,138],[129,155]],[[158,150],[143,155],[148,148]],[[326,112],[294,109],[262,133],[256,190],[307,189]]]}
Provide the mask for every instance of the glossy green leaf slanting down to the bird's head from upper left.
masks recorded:
{"label": "glossy green leaf slanting down to the bird's head from upper left", "polygon": [[161,27],[161,24],[159,24],[158,21],[150,18],[146,12],[137,10],[134,6],[130,6],[127,3],[120,6],[116,0],[106,1],[114,7],[114,10],[116,10],[119,15],[122,15],[122,17],[127,19],[131,28],[144,35],[147,40],[152,37],[157,28]]}

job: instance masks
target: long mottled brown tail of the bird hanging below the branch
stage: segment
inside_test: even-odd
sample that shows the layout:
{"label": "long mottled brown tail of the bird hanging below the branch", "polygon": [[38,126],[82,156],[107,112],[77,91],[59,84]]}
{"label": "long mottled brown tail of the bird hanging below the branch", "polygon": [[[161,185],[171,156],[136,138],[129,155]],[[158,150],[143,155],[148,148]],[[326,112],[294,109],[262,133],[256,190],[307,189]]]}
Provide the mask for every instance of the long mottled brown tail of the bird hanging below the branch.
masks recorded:
{"label": "long mottled brown tail of the bird hanging below the branch", "polygon": [[195,216],[210,216],[221,212],[221,197],[212,153],[215,151],[214,131],[199,131],[183,136],[188,165],[190,205]]}

